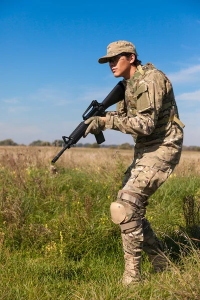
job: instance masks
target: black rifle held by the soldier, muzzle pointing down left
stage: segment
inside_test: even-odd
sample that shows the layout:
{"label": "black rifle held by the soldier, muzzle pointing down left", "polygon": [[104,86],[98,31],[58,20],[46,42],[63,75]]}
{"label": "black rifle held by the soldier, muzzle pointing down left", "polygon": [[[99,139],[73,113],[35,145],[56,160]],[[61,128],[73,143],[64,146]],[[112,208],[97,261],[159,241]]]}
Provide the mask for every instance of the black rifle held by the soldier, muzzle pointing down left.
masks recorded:
{"label": "black rifle held by the soldier, muzzle pointing down left", "polygon": [[[88,124],[84,123],[84,120],[87,120],[91,116],[105,115],[105,109],[124,99],[124,91],[125,89],[123,83],[119,81],[101,103],[98,103],[96,100],[91,101],[91,104],[87,107],[82,115],[83,121],[79,123],[79,125],[75,128],[75,130],[73,130],[69,137],[62,136],[65,146],[52,159],[52,162],[55,162],[66,149],[69,149],[71,146],[73,146],[84,135],[88,126]],[[105,141],[102,131],[94,135],[97,144],[101,144],[103,141]]]}

